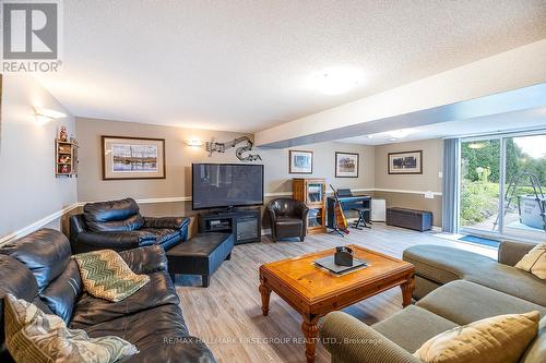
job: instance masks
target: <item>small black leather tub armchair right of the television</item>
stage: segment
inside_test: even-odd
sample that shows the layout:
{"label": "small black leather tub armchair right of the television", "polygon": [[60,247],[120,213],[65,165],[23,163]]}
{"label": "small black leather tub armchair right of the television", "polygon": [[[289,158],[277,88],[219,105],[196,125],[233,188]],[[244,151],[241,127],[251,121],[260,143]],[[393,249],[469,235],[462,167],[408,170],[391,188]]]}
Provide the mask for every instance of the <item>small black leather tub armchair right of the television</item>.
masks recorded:
{"label": "small black leather tub armchair right of the television", "polygon": [[299,237],[304,241],[307,232],[309,208],[304,202],[293,198],[276,198],[268,204],[271,220],[271,237],[278,239]]}

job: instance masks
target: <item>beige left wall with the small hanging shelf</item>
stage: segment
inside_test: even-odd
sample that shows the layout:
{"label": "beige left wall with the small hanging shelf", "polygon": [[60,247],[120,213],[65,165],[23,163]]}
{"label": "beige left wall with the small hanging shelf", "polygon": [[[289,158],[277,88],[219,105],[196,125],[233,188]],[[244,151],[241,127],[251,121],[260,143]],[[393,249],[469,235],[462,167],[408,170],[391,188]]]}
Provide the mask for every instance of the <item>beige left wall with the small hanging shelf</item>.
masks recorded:
{"label": "beige left wall with the small hanging shelf", "polygon": [[[0,134],[0,239],[76,202],[75,179],[55,177],[55,137],[72,117],[37,125],[34,106],[69,113],[37,81],[3,75]],[[54,221],[49,227],[59,227]]]}

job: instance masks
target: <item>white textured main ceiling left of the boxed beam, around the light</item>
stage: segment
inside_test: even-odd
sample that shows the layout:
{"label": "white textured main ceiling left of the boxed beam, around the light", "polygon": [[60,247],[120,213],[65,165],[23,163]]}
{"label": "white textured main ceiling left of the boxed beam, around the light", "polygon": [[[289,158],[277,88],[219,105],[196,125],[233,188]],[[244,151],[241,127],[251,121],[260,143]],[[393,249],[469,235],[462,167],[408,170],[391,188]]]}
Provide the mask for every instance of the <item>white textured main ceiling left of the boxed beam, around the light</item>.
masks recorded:
{"label": "white textured main ceiling left of the boxed beam, around the light", "polygon": [[[64,1],[73,114],[253,132],[546,37],[544,0]],[[361,69],[327,96],[309,76]]]}

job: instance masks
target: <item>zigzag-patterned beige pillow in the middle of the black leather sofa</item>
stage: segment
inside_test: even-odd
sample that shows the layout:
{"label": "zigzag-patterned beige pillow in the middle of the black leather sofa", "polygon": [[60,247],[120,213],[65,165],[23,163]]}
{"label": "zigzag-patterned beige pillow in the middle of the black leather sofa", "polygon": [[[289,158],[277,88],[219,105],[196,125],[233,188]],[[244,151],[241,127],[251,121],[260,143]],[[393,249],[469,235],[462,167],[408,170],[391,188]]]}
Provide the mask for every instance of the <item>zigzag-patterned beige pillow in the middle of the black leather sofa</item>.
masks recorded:
{"label": "zigzag-patterned beige pillow in the middle of the black leather sofa", "polygon": [[134,274],[112,250],[86,252],[72,257],[80,267],[85,291],[96,298],[118,302],[150,281],[150,276]]}

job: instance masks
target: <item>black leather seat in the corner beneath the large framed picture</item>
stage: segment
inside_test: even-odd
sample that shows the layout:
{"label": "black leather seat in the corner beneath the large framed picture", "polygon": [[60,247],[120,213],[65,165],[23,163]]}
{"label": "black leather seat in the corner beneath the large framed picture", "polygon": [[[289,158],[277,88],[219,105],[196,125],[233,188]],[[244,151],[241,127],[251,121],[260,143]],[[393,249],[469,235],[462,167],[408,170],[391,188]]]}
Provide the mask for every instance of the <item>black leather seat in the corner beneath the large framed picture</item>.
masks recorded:
{"label": "black leather seat in the corner beneath the large framed picture", "polygon": [[87,203],[70,217],[70,242],[73,253],[153,244],[168,250],[188,239],[189,225],[187,217],[142,217],[132,198]]}

